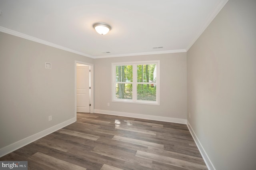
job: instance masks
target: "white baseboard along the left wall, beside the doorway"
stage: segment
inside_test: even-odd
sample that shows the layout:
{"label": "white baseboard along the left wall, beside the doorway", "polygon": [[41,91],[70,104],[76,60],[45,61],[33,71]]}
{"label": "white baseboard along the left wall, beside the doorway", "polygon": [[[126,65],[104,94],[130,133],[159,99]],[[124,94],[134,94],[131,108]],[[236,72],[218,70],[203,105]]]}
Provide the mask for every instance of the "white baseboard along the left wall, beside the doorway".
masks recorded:
{"label": "white baseboard along the left wall, beside the doorway", "polygon": [[44,137],[44,136],[46,136],[46,135],[48,135],[52,132],[55,132],[56,130],[59,130],[63,127],[66,127],[66,126],[68,126],[68,125],[70,125],[71,123],[74,123],[74,122],[76,122],[75,117],[72,118],[72,119],[69,119],[68,121],[62,122],[58,125],[55,125],[53,127],[50,127],[46,130],[43,130],[41,132],[38,132],[38,133],[33,134],[31,136],[28,136],[28,137],[26,137],[22,140],[14,142],[14,143],[12,143],[8,146],[5,146],[4,148],[0,149],[0,157],[4,156],[4,155],[6,155],[10,152],[13,152],[14,150],[17,150],[18,148],[21,148],[21,147],[23,147],[27,144],[30,144],[31,142],[34,142],[35,140],[38,140],[38,139],[40,139],[40,138],[42,138],[42,137]]}

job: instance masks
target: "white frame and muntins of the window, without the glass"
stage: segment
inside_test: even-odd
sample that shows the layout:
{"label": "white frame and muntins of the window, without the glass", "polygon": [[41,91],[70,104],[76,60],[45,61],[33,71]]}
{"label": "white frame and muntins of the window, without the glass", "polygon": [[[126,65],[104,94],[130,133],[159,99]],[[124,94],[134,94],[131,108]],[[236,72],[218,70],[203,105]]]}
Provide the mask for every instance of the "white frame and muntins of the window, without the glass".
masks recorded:
{"label": "white frame and muntins of the window, without the glass", "polygon": [[[156,64],[156,101],[137,100],[137,84],[152,84],[152,82],[137,82],[137,65]],[[132,84],[132,99],[117,99],[116,98],[116,66],[117,65],[132,65],[132,82],[122,82]],[[119,82],[118,82],[119,83]],[[136,103],[146,105],[160,105],[160,60],[155,61],[133,61],[112,63],[112,102]]]}

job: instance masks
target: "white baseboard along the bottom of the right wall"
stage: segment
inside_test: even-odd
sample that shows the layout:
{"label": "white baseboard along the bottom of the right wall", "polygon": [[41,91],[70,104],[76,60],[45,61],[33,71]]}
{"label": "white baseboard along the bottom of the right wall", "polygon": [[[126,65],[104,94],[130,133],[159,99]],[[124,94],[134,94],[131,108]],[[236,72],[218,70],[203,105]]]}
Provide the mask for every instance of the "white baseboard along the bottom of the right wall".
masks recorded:
{"label": "white baseboard along the bottom of the right wall", "polygon": [[216,170],[212,164],[212,161],[210,160],[210,158],[208,157],[207,153],[205,152],[202,144],[200,143],[199,139],[197,138],[193,128],[190,126],[189,122],[187,121],[187,126],[188,126],[188,129],[194,139],[194,141],[196,142],[196,146],[198,147],[198,150],[200,151],[203,159],[204,159],[204,162],[208,168],[208,170]]}

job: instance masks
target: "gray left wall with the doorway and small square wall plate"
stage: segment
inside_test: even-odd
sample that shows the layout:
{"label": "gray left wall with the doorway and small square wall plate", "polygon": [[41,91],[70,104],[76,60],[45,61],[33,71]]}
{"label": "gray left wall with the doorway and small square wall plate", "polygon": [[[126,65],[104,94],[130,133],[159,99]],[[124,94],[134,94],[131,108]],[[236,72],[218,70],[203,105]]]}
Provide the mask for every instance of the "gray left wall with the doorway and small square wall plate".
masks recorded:
{"label": "gray left wall with the doorway and small square wall plate", "polygon": [[[0,148],[75,116],[75,60],[93,63],[0,32]],[[52,69],[45,69],[45,62]]]}

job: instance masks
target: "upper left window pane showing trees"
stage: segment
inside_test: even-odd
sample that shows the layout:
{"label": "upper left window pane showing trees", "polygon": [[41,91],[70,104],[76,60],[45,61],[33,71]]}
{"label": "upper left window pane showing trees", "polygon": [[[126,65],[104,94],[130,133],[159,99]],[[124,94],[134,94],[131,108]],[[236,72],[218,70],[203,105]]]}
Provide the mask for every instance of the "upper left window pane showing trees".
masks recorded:
{"label": "upper left window pane showing trees", "polygon": [[116,66],[116,82],[132,82],[132,65]]}

